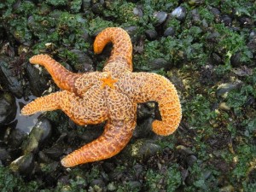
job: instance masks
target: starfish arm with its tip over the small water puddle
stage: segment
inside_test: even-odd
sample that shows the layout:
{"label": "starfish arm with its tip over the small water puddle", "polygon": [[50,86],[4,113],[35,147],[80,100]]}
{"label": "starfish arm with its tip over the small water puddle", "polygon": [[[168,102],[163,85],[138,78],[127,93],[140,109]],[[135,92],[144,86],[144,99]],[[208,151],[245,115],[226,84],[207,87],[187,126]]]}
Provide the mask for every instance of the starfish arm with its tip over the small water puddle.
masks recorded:
{"label": "starfish arm with its tip over the small water puddle", "polygon": [[22,108],[21,113],[30,115],[55,109],[61,109],[78,125],[98,124],[106,120],[108,115],[102,90],[96,87],[90,88],[84,98],[67,90],[39,97]]}

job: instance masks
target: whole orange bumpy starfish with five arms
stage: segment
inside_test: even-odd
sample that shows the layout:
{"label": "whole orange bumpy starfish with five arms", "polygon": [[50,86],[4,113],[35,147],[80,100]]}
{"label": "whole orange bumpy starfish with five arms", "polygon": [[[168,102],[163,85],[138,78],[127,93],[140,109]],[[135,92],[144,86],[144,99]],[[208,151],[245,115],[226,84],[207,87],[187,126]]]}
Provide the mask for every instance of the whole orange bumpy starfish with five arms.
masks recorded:
{"label": "whole orange bumpy starfish with five arms", "polygon": [[156,134],[170,135],[180,123],[182,112],[174,85],[158,74],[131,73],[131,40],[123,29],[110,27],[102,31],[96,37],[95,52],[101,53],[108,42],[113,43],[113,50],[102,73],[71,73],[49,55],[30,59],[32,64],[44,66],[62,90],[27,104],[22,114],[61,109],[79,125],[107,120],[102,136],[68,154],[61,160],[62,166],[118,154],[131,139],[138,102],[159,103],[161,120],[152,124]]}

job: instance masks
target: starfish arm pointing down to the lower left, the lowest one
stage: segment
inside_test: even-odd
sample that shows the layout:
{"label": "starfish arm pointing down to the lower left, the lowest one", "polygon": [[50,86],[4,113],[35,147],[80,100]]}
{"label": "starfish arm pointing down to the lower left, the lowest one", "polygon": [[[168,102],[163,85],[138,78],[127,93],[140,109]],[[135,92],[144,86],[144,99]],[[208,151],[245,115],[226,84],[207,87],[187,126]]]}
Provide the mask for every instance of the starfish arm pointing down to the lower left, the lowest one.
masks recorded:
{"label": "starfish arm pointing down to the lower left, the lowest one", "polygon": [[61,165],[66,167],[77,166],[96,160],[105,160],[115,154],[119,154],[130,141],[135,125],[135,120],[108,120],[101,137],[98,137],[91,143],[85,144],[72,154],[68,154],[61,160]]}

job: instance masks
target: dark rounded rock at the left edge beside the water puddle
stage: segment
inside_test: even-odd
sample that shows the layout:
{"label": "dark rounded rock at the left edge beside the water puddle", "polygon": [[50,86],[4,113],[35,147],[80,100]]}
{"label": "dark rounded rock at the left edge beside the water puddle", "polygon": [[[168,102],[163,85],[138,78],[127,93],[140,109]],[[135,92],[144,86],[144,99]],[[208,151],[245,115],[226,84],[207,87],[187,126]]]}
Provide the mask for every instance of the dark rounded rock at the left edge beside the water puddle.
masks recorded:
{"label": "dark rounded rock at the left edge beside the water puddle", "polygon": [[15,119],[17,105],[15,96],[0,91],[0,125],[9,124]]}

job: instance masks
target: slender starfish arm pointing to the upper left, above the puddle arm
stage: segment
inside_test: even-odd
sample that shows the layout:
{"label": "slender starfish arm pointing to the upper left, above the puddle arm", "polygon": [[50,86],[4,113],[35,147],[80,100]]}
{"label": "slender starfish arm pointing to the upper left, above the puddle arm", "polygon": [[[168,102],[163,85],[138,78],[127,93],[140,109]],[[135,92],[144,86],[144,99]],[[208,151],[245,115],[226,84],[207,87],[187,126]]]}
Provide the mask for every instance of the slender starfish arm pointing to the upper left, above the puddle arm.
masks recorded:
{"label": "slender starfish arm pointing to the upper left, above the puddle arm", "polygon": [[46,68],[49,74],[55,81],[55,84],[58,85],[62,90],[76,91],[74,83],[81,74],[71,73],[65,67],[62,67],[61,64],[49,55],[35,55],[32,56],[29,60],[32,64],[39,64]]}

